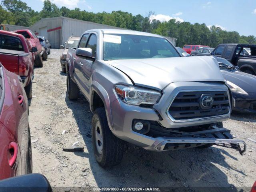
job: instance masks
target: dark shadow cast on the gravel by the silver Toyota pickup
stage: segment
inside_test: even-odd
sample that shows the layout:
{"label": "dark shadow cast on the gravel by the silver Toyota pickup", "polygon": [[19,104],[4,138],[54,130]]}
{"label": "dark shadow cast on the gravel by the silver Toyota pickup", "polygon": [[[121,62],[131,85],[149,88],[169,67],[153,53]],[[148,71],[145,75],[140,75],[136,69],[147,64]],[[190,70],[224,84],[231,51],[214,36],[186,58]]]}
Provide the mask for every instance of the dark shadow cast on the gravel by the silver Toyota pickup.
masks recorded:
{"label": "dark shadow cast on the gravel by the silver Toyota pickup", "polygon": [[[224,154],[227,158],[237,159],[222,148],[150,152],[127,144],[121,164],[112,168],[101,168],[94,158],[91,138],[92,113],[87,100],[80,95],[77,101],[70,101],[68,96],[65,101],[73,111],[88,150],[88,153],[75,154],[89,159],[90,168],[99,187],[166,187],[164,189],[167,191],[173,187],[171,189],[175,191],[180,191],[181,188],[184,188],[182,191],[238,191],[228,182],[226,174],[234,168],[226,162]],[[235,171],[245,175],[240,170]]]}

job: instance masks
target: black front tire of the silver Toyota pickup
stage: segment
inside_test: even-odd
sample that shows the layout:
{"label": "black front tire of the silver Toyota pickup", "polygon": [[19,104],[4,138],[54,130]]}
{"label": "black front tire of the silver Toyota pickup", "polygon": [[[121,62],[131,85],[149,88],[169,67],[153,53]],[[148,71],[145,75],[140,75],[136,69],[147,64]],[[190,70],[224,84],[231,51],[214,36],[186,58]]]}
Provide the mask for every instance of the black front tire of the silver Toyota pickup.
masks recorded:
{"label": "black front tire of the silver Toyota pickup", "polygon": [[[96,132],[98,126],[102,131],[102,153],[98,152],[96,142]],[[97,108],[92,117],[92,145],[94,156],[98,164],[102,167],[111,167],[122,161],[124,153],[124,141],[114,136],[108,127],[108,121],[104,108]]]}

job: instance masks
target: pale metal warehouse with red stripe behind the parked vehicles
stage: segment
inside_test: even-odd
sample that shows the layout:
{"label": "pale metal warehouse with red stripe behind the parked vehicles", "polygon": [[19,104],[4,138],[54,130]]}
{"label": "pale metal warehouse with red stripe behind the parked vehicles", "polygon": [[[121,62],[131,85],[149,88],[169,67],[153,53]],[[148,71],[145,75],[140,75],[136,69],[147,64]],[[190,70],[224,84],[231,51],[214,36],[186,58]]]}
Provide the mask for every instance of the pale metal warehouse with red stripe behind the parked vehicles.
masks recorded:
{"label": "pale metal warehouse with red stripe behind the parked vehicles", "polygon": [[[45,18],[30,26],[30,30],[37,36],[44,36],[49,40],[52,48],[60,48],[70,36],[80,37],[83,32],[90,29],[122,29],[114,26],[103,25],[68,17]],[[166,37],[176,44],[175,38]]]}

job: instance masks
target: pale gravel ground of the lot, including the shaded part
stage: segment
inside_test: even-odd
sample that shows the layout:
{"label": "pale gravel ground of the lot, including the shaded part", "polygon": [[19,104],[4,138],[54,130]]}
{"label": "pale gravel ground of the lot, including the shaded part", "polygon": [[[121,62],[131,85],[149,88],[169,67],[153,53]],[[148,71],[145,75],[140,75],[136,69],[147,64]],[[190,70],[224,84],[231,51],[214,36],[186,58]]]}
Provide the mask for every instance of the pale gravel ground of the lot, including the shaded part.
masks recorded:
{"label": "pale gravel ground of the lot, including the shaded part", "polygon": [[[92,149],[89,104],[82,95],[77,101],[66,96],[61,52],[52,49],[44,66],[35,68],[29,116],[33,172],[44,174],[52,187],[67,187],[65,191],[70,191],[70,187],[83,186],[85,191],[93,187],[155,186],[205,191],[193,187],[231,186],[226,191],[240,191],[241,187],[252,186],[256,180],[256,143],[248,138],[256,140],[256,118],[245,114],[234,114],[224,122],[236,138],[246,141],[243,156],[218,146],[159,153],[128,144],[120,165],[101,168]],[[62,151],[77,141],[84,146],[84,152]]]}

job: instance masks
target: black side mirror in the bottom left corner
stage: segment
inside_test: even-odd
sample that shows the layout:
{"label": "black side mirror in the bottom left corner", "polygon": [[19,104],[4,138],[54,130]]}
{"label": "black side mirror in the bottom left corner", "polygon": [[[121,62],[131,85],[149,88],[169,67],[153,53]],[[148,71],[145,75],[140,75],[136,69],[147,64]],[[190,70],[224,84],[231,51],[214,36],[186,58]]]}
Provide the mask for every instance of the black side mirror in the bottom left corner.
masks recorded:
{"label": "black side mirror in the bottom left corner", "polygon": [[0,180],[0,191],[4,190],[8,192],[52,192],[46,177],[39,173]]}

